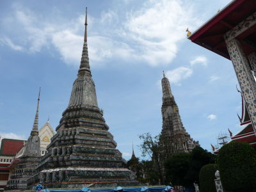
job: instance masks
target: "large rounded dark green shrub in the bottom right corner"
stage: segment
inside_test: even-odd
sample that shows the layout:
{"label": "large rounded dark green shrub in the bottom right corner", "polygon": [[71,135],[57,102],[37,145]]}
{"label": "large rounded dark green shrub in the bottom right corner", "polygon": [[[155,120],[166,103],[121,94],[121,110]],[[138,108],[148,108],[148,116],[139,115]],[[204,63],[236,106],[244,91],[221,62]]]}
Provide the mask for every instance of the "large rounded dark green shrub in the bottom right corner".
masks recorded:
{"label": "large rounded dark green shrub in the bottom right corner", "polygon": [[256,152],[247,143],[228,143],[217,157],[225,191],[256,191]]}

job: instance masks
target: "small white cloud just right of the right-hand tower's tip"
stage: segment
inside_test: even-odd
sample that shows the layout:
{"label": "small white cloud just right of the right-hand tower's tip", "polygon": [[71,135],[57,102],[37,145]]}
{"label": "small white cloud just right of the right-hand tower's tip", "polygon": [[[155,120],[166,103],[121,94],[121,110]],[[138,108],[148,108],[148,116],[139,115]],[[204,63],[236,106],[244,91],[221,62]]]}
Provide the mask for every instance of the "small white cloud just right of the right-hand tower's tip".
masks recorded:
{"label": "small white cloud just right of the right-hand tower's tip", "polygon": [[188,67],[179,67],[165,72],[165,76],[169,79],[170,83],[180,84],[180,81],[187,79],[191,76],[193,70]]}

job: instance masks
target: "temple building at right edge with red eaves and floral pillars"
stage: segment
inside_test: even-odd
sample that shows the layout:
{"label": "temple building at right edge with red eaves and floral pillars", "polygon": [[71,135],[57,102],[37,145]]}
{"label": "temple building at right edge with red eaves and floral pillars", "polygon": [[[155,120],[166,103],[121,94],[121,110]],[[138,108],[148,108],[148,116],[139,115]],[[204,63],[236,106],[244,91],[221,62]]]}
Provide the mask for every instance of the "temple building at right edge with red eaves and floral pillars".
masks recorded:
{"label": "temple building at right edge with red eaves and floral pillars", "polygon": [[243,95],[244,109],[248,111],[246,116],[250,119],[250,124],[246,124],[245,130],[231,137],[232,140],[237,141],[248,139],[249,136],[246,134],[251,134],[250,138],[255,138],[256,82],[253,76],[256,72],[255,10],[255,0],[231,1],[194,33],[188,34],[189,40],[193,43],[232,61]]}

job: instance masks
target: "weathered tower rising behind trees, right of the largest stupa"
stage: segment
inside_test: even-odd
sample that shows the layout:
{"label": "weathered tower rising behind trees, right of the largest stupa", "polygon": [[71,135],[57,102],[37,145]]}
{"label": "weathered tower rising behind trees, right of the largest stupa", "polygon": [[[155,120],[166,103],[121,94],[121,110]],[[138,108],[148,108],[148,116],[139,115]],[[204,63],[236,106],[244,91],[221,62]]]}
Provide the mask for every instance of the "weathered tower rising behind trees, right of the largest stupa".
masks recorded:
{"label": "weathered tower rising behind trees, right of the largest stupa", "polygon": [[161,109],[163,127],[160,142],[163,147],[165,159],[172,156],[172,154],[189,153],[199,143],[198,141],[194,141],[188,132],[186,132],[179,115],[179,108],[171,91],[170,82],[164,74],[163,76],[163,104]]}

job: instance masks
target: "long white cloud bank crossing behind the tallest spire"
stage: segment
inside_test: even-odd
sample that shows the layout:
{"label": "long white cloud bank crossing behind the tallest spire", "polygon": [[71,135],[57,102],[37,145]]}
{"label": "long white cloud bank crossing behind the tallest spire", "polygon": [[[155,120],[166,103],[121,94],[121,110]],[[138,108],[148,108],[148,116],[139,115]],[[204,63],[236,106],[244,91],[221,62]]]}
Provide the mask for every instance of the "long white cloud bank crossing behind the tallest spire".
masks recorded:
{"label": "long white cloud bank crossing behind the tallest spire", "polygon": [[[65,63],[79,65],[84,13],[76,19],[64,20],[54,15],[60,14],[56,10],[42,16],[22,6],[14,9],[8,24],[19,27],[22,45],[10,41],[5,44],[15,50],[24,47],[27,52],[54,45]],[[186,28],[193,29],[200,23],[191,4],[183,0],[152,0],[123,14],[125,18],[118,15],[118,11],[102,12],[99,18],[88,15],[88,49],[93,65],[112,58],[144,61],[151,66],[168,65],[179,51],[178,44],[186,40]]]}

